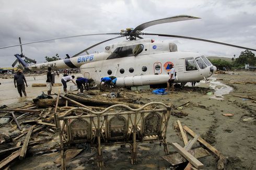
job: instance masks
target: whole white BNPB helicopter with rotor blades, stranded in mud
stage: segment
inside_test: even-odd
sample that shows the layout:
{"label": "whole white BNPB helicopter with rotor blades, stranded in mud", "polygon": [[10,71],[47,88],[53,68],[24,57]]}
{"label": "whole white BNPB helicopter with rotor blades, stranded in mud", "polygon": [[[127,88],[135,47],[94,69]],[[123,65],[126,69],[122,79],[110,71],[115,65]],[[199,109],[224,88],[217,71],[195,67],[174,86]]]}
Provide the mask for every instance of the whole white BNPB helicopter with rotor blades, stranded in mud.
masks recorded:
{"label": "whole white BNPB helicopter with rotor blades, stranded in mud", "polygon": [[[192,19],[200,18],[188,15],[179,15],[145,22],[137,26],[135,29],[127,28],[125,30],[121,30],[121,32],[118,33],[84,34],[75,35],[72,37],[57,38],[66,39],[106,34],[118,35],[118,37],[94,44],[85,50],[73,55],[72,57],[67,55],[67,58],[55,60],[53,62],[28,66],[25,62],[21,61],[22,59],[18,54],[16,54],[15,57],[19,60],[22,66],[32,71],[45,70],[48,69],[48,67],[52,67],[54,70],[80,68],[83,77],[93,79],[97,84],[100,83],[102,77],[114,76],[117,77],[116,86],[120,87],[166,83],[169,78],[168,74],[170,71],[170,65],[173,65],[177,72],[177,76],[174,82],[181,83],[182,86],[184,86],[187,82],[206,80],[208,77],[211,77],[214,74],[216,67],[203,54],[196,52],[179,52],[177,50],[177,45],[172,42],[157,42],[153,39],[144,39],[142,37],[143,35],[157,35],[160,37],[191,39],[256,51],[255,49],[248,47],[199,38],[142,32],[144,29],[150,26],[159,25],[161,23]],[[92,47],[95,47],[101,43],[124,37],[126,39],[125,41],[106,46],[104,52],[92,54],[87,52]],[[24,44],[20,43],[17,45],[0,47],[0,49],[57,39],[41,40]],[[85,52],[87,53],[86,55],[81,55]]]}

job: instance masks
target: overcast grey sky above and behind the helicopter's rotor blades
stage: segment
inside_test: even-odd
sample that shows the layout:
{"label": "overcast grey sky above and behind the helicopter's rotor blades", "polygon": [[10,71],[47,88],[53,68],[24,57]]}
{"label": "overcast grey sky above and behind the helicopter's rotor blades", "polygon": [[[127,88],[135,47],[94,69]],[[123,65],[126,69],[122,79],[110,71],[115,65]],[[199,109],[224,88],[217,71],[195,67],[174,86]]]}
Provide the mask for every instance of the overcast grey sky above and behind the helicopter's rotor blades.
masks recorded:
{"label": "overcast grey sky above and behind the helicopter's rotor blades", "polygon": [[[141,23],[176,15],[191,15],[201,19],[164,23],[143,30],[147,33],[175,34],[220,41],[256,48],[255,0],[208,1],[27,1],[0,0],[0,47],[68,37],[79,34],[120,32]],[[38,63],[45,56],[58,53],[72,56],[86,47],[116,35],[69,38],[24,45],[23,53]],[[206,56],[239,56],[240,48],[193,40],[144,36],[156,41],[174,42],[179,51],[195,51]],[[103,43],[89,52],[104,51],[104,46],[125,38]],[[0,49],[0,67],[11,67],[20,47]],[[255,54],[255,52],[253,52]]]}

